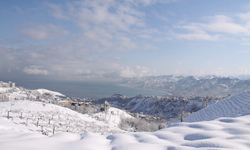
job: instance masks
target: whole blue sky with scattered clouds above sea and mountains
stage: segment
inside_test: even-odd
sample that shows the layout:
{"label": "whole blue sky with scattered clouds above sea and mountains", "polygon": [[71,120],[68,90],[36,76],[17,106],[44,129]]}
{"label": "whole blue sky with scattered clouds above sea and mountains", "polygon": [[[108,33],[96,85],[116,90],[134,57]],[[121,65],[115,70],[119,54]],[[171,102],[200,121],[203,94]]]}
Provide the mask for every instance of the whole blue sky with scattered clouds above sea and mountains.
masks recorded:
{"label": "whole blue sky with scattered clouds above sea and mountains", "polygon": [[7,80],[250,74],[249,0],[0,1]]}

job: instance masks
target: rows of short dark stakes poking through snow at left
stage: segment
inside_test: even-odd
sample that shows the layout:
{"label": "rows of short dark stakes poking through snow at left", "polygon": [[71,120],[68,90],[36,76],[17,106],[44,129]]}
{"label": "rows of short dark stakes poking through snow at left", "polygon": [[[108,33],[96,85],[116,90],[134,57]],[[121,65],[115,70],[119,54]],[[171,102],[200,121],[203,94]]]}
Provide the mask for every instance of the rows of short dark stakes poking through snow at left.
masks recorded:
{"label": "rows of short dark stakes poking through snow at left", "polygon": [[[23,110],[8,110],[5,109],[7,118],[16,120],[19,124],[25,127],[41,127],[42,134],[52,135],[55,132],[71,132],[71,133],[84,133],[86,131],[106,134],[106,133],[121,133],[122,131],[111,129],[108,125],[98,125],[92,121],[82,120],[78,115],[69,113],[61,114],[61,112],[31,112]],[[1,109],[1,113],[3,113]],[[60,116],[61,115],[61,116]],[[16,118],[16,119],[15,119]],[[25,121],[20,122],[25,119]],[[17,123],[16,122],[16,123]]]}

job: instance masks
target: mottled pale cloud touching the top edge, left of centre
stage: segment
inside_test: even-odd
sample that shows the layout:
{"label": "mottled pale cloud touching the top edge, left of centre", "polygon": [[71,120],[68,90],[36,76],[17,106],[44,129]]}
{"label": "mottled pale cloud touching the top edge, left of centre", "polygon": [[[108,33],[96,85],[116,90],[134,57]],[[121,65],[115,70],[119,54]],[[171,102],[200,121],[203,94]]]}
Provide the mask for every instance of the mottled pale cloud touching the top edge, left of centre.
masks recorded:
{"label": "mottled pale cloud touching the top edge, left of centre", "polygon": [[131,26],[144,26],[143,12],[135,9],[129,2],[78,1],[66,6],[47,3],[51,14],[64,20],[71,20],[83,29],[101,25],[109,30],[129,31]]}

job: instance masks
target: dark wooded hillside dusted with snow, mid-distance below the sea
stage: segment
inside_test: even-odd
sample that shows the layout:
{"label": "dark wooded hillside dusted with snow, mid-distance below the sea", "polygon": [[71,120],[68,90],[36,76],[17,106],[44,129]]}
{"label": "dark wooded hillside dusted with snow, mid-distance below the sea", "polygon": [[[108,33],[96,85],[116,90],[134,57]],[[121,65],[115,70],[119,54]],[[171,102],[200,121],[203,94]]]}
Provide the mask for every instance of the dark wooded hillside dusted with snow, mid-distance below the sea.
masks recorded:
{"label": "dark wooded hillside dusted with snow, mid-distance below the sea", "polygon": [[[185,112],[196,112],[205,105],[210,105],[221,100],[215,97],[193,97],[193,98],[175,98],[175,97],[148,97],[148,96],[135,96],[130,98],[116,98],[107,97],[101,98],[93,104],[103,104],[108,101],[112,106],[125,109],[134,114],[147,115],[150,119],[160,117],[161,119],[176,118],[181,109]],[[151,120],[150,119],[150,120]]]}

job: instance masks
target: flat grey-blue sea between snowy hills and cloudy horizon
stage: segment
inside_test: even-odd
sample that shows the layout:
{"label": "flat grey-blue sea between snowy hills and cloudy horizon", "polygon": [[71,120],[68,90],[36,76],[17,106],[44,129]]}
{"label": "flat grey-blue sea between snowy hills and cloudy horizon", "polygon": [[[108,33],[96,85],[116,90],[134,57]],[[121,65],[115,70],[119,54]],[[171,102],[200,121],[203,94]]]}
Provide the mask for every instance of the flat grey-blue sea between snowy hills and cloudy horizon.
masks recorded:
{"label": "flat grey-blue sea between snowy hills and cloudy horizon", "polygon": [[127,97],[142,94],[143,96],[162,96],[163,92],[144,90],[132,87],[120,86],[117,82],[69,82],[69,81],[13,81],[16,86],[27,89],[44,88],[60,92],[69,97],[75,98],[103,98],[110,97],[115,93],[124,94]]}

